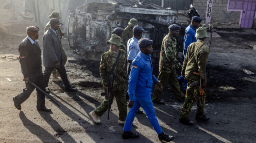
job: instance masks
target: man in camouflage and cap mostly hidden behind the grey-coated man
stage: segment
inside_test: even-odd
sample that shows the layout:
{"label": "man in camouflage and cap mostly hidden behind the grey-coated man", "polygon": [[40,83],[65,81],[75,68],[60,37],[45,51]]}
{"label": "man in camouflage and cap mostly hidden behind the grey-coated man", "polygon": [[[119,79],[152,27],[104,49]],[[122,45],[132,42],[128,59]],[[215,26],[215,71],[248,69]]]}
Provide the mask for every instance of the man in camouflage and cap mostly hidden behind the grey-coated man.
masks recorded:
{"label": "man in camouflage and cap mostly hidden behind the grey-coated man", "polygon": [[[60,13],[59,12],[52,12],[52,14],[50,16],[48,16],[49,18],[57,18],[58,20],[61,19],[61,16],[60,16]],[[48,27],[50,28],[50,21],[46,24],[46,26],[44,27],[44,32],[46,32],[48,30]],[[62,50],[62,53],[63,53],[63,63],[64,65],[66,64],[67,62],[67,55],[62,47],[62,44],[61,44],[61,39],[62,39],[62,36],[64,36],[64,33],[61,31],[61,29],[59,28],[58,30],[56,30],[59,38],[60,38],[60,46],[61,46],[61,50]],[[55,82],[61,82],[61,79],[58,78],[58,76],[60,76],[58,74],[58,71],[54,68],[53,71],[52,71],[52,81],[55,81]]]}

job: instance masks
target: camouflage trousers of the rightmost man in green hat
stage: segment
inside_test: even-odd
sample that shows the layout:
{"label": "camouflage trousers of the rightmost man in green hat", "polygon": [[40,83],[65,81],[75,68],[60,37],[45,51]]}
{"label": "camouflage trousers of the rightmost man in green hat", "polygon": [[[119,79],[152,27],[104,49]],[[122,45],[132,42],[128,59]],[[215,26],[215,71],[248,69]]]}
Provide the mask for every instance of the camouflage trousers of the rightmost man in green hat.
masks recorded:
{"label": "camouflage trousers of the rightmost man in green hat", "polygon": [[200,96],[199,96],[199,87],[198,85],[190,88],[190,84],[196,80],[188,80],[187,90],[186,90],[186,98],[184,104],[182,106],[182,110],[180,112],[180,119],[187,120],[188,116],[191,112],[191,108],[194,105],[194,102],[197,101],[197,108],[196,108],[196,116],[204,116],[204,104],[206,98],[206,89],[204,90],[204,94],[202,95],[202,105],[200,106]]}

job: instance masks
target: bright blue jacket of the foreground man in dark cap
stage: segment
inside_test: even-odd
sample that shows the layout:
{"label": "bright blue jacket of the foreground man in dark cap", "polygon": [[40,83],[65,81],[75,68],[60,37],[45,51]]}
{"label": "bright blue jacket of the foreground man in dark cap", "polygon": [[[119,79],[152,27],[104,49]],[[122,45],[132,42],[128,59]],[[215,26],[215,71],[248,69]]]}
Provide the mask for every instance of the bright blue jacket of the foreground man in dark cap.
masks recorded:
{"label": "bright blue jacket of the foreground man in dark cap", "polygon": [[153,82],[158,82],[153,75],[151,55],[141,52],[132,61],[132,69],[129,76],[129,96],[130,100],[136,100],[136,96],[148,96],[152,93]]}

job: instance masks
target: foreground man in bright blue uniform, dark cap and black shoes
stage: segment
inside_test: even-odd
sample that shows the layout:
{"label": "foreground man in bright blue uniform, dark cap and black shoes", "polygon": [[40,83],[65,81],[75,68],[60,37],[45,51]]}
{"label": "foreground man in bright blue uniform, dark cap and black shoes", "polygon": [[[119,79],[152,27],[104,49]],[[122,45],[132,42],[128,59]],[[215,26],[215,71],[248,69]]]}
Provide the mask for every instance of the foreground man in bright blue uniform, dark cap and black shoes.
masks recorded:
{"label": "foreground man in bright blue uniform, dark cap and black shoes", "polygon": [[153,66],[151,62],[151,53],[153,41],[150,39],[140,39],[138,46],[140,52],[132,61],[132,69],[129,76],[129,96],[130,101],[128,107],[130,108],[126,121],[124,123],[123,139],[137,138],[138,133],[132,133],[132,122],[134,121],[135,114],[138,112],[140,106],[146,112],[148,119],[158,134],[160,141],[172,141],[174,137],[166,135],[156,118],[156,112],[151,100],[153,82],[156,82],[158,89],[162,90],[161,82],[153,75]]}

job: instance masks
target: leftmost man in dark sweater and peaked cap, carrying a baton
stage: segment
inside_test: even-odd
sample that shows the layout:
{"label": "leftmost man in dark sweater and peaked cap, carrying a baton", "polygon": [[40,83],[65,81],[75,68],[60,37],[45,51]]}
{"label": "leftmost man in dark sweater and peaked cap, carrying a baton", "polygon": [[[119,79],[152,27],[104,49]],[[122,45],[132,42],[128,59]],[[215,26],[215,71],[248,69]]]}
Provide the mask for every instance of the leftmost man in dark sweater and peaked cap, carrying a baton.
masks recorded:
{"label": "leftmost man in dark sweater and peaked cap, carrying a baton", "polygon": [[[20,67],[26,87],[19,95],[12,98],[14,106],[18,110],[21,110],[21,104],[29,98],[30,94],[35,89],[35,86],[28,81],[36,84],[43,91],[45,90],[42,73],[41,49],[36,41],[36,39],[38,39],[38,31],[39,28],[37,26],[27,27],[28,36],[23,39],[19,45]],[[45,107],[45,95],[40,92],[40,90],[36,89],[36,96],[36,108],[38,110],[50,112],[51,110]]]}

